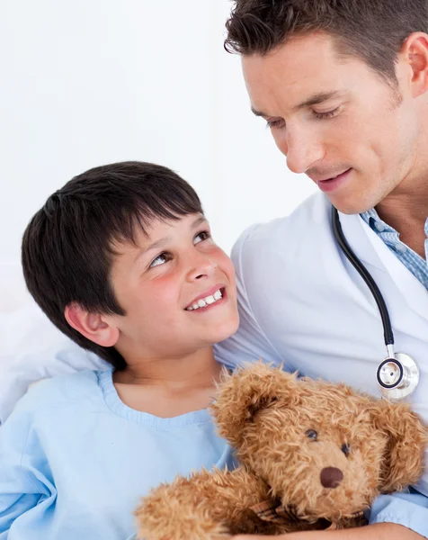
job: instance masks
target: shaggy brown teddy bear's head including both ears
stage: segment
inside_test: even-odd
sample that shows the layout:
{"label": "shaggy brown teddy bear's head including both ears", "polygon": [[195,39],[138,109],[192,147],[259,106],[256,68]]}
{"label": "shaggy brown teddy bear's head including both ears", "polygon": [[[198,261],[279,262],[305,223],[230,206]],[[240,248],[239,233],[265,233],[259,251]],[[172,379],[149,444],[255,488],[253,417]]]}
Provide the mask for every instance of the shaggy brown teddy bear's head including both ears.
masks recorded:
{"label": "shaggy brown teddy bear's head including both ears", "polygon": [[225,375],[213,414],[240,463],[300,519],[351,518],[423,471],[417,415],[344,384],[260,362]]}

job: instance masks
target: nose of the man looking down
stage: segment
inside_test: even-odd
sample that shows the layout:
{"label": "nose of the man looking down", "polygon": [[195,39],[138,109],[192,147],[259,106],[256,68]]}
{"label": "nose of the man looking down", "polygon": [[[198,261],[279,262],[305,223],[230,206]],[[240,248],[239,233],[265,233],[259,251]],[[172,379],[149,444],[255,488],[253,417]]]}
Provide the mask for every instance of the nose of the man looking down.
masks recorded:
{"label": "nose of the man looking down", "polygon": [[293,173],[305,173],[325,155],[325,149],[315,133],[290,128],[278,144],[287,157],[287,166]]}

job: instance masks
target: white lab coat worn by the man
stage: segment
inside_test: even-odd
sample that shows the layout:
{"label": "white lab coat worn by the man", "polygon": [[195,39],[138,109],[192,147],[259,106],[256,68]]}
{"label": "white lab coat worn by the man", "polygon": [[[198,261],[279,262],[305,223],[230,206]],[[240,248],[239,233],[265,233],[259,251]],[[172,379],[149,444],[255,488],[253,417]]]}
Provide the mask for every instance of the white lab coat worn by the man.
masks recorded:
{"label": "white lab coat worn by the man", "polygon": [[[421,380],[409,401],[428,422],[428,292],[360,215],[341,213],[340,220],[387,302],[397,352],[419,365]],[[376,371],[387,355],[379,310],[335,243],[324,194],[310,197],[289,217],[247,229],[232,258],[241,326],[216,347],[221,362],[262,356],[380,396]],[[428,473],[418,489],[428,496]]]}

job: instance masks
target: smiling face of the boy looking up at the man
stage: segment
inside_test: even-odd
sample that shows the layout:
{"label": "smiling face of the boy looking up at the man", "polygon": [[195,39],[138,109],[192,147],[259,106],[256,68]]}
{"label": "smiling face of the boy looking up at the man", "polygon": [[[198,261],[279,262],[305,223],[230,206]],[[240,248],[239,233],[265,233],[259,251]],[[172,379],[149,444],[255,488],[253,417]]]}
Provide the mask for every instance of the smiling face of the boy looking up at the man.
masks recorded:
{"label": "smiling face of the boy looking up at the man", "polygon": [[125,360],[189,355],[234,334],[234,267],[208,221],[189,214],[156,220],[146,232],[138,231],[138,247],[114,246],[111,284],[126,314],[108,319],[120,331],[115,347]]}

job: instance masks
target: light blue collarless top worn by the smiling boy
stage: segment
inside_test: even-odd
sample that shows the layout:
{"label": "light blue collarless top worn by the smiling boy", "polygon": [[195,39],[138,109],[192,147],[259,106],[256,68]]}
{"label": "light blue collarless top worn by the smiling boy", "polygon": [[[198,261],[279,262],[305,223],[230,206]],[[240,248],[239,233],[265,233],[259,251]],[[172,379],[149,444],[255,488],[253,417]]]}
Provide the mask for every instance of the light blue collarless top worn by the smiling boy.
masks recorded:
{"label": "light blue collarless top worn by the smiling boy", "polygon": [[126,540],[152,487],[233,467],[208,410],[161,419],[129,409],[111,373],[42,381],[0,428],[0,540]]}

